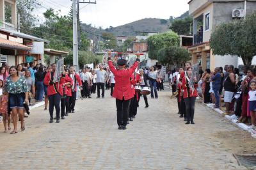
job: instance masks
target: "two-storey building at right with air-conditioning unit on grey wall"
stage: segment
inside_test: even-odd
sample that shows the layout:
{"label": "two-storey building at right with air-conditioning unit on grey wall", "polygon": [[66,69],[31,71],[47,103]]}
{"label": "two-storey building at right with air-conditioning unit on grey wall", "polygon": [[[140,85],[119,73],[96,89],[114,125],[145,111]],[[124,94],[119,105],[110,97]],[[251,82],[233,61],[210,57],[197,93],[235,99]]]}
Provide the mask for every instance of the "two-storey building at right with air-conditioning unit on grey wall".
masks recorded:
{"label": "two-storey building at right with air-conditioning unit on grey wall", "polygon": [[[201,63],[202,68],[238,65],[237,56],[213,55],[209,45],[211,34],[216,27],[233,19],[243,19],[256,10],[256,0],[191,0],[189,15],[193,17],[193,46],[189,47],[192,62]],[[234,13],[238,10],[239,15]]]}

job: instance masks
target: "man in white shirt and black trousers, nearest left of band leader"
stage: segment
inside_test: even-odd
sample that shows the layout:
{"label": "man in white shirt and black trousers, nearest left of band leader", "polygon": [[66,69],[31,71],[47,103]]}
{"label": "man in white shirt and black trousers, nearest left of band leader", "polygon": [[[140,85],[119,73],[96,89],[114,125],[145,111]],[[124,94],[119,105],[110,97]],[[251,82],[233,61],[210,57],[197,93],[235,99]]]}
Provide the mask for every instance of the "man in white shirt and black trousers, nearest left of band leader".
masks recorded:
{"label": "man in white shirt and black trousers, nearest left of band leader", "polygon": [[99,65],[99,68],[100,68],[99,70],[96,70],[97,98],[100,98],[100,88],[102,89],[101,97],[104,98],[104,93],[105,93],[104,86],[106,82],[107,72],[103,69],[102,65]]}

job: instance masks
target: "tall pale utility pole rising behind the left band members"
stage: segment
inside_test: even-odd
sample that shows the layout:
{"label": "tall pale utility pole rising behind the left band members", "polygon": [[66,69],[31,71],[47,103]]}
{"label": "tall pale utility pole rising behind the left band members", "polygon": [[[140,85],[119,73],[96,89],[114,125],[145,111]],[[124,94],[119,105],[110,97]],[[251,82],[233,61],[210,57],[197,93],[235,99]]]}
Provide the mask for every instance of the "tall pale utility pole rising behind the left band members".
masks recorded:
{"label": "tall pale utility pole rising behind the left band members", "polygon": [[73,65],[78,73],[78,44],[77,44],[77,0],[73,0]]}

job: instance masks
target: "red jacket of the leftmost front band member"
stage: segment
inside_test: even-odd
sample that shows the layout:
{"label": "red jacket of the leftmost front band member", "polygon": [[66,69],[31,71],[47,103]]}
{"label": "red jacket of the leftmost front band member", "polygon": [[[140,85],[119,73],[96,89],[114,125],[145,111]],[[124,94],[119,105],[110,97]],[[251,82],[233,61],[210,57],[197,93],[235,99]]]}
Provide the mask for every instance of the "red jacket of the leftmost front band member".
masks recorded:
{"label": "red jacket of the leftmost front band member", "polygon": [[46,73],[45,78],[44,78],[44,84],[47,86],[47,95],[48,96],[55,95],[57,93],[59,93],[61,96],[63,96],[62,85],[63,85],[63,83],[65,83],[66,76],[67,75],[65,75],[65,77],[61,77],[60,82],[55,82],[53,84],[50,84],[50,82],[53,81],[54,72]]}

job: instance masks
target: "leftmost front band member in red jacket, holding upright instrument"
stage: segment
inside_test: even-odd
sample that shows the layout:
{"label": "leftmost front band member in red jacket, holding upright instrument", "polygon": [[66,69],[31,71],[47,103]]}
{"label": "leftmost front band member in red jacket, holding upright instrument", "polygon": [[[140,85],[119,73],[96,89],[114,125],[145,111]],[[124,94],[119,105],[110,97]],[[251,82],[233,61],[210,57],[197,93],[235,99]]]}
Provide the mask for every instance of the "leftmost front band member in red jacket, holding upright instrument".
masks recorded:
{"label": "leftmost front band member in red jacket, holding upright instrument", "polygon": [[44,84],[47,86],[47,96],[49,97],[50,123],[53,122],[53,109],[56,110],[56,123],[60,123],[60,100],[63,95],[63,83],[65,75],[61,74],[60,82],[53,82],[56,64],[52,64],[52,72],[48,72],[44,78]]}

